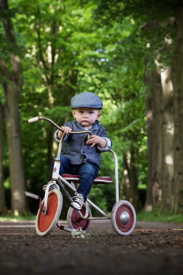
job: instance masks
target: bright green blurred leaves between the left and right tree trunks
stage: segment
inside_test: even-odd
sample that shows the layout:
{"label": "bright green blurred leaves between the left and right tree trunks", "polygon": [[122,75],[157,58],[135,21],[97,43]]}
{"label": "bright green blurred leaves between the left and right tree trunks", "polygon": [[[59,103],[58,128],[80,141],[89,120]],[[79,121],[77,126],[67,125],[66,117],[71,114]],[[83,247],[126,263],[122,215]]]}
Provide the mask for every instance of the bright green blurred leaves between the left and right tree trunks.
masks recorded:
{"label": "bright green blurred leaves between the left and right tree trunks", "polygon": [[[29,124],[28,119],[47,116],[62,126],[73,119],[71,97],[84,91],[97,93],[104,103],[100,123],[113,140],[112,149],[119,162],[119,183],[123,157],[129,152],[134,152],[138,183],[140,186],[147,183],[144,62],[147,58],[149,69],[153,68],[155,58],[162,62],[162,67],[168,64],[174,44],[166,41],[173,39],[176,31],[171,23],[161,26],[157,23],[157,28],[148,30],[141,27],[146,25],[147,18],[154,20],[155,15],[159,16],[161,2],[30,0],[27,5],[25,0],[9,0],[18,41],[17,54],[23,65],[19,112],[29,191],[42,194],[42,185],[48,181],[51,163],[48,144],[53,140],[55,129],[47,121]],[[172,16],[173,1],[163,2],[161,14],[165,20],[166,13]],[[0,39],[0,54],[9,61],[2,20]],[[7,81],[1,75],[0,78]],[[4,104],[6,99],[1,89],[0,99]],[[4,143],[7,181],[6,140]],[[56,149],[52,150],[52,156]],[[114,179],[112,154],[102,153],[99,175]],[[108,212],[115,197],[114,186],[95,186],[91,196]]]}

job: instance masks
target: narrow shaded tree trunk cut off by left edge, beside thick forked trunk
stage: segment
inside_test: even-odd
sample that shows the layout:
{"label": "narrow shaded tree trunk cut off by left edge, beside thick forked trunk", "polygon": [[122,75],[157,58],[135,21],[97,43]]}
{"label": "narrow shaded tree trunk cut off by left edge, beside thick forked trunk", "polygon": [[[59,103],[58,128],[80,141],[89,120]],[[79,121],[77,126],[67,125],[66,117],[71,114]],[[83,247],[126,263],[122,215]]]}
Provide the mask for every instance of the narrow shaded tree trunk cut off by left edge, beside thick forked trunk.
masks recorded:
{"label": "narrow shaded tree trunk cut off by left edge, beside thick forked trunk", "polygon": [[5,200],[4,173],[3,173],[3,105],[0,102],[0,216],[7,214],[7,205]]}

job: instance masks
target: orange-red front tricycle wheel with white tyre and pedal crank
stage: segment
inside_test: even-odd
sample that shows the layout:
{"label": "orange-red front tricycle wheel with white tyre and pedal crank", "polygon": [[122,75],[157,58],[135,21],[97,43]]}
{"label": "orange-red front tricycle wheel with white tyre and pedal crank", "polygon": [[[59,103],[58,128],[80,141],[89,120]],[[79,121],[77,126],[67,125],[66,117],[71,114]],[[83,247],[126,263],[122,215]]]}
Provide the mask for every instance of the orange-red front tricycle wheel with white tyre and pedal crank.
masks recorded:
{"label": "orange-red front tricycle wheel with white tyre and pedal crank", "polygon": [[[40,209],[36,217],[36,232],[39,236],[47,236],[55,228],[62,210],[63,197],[62,193],[53,189],[48,193],[47,210],[43,215]],[[42,201],[41,209],[44,207],[44,199]]]}

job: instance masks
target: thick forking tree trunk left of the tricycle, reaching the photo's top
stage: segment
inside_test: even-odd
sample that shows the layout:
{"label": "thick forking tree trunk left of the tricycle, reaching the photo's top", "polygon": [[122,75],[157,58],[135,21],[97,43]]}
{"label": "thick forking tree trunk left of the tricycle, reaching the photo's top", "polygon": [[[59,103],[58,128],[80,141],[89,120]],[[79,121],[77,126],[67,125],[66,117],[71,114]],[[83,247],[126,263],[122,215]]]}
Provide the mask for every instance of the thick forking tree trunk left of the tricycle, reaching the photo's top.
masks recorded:
{"label": "thick forking tree trunk left of the tricycle, reaching the photo's top", "polygon": [[9,152],[9,170],[11,181],[11,211],[15,215],[26,214],[27,204],[24,196],[25,180],[23,170],[23,155],[21,148],[21,136],[19,125],[19,96],[22,87],[23,73],[19,56],[14,54],[16,41],[13,25],[9,16],[7,0],[1,0],[0,10],[7,15],[4,20],[4,29],[7,43],[9,43],[9,55],[12,72],[3,58],[0,57],[0,71],[6,81],[2,83],[5,94],[5,120],[7,127],[7,140]]}

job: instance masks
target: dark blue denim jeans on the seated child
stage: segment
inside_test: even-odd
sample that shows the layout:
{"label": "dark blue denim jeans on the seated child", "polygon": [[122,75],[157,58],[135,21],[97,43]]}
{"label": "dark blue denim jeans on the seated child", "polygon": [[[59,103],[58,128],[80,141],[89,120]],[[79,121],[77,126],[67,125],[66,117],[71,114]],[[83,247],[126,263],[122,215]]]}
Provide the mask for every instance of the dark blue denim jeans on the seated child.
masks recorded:
{"label": "dark blue denim jeans on the seated child", "polygon": [[[50,178],[52,178],[52,173],[53,173],[53,166],[54,166],[54,161],[55,156],[52,159],[51,163],[51,175]],[[79,187],[77,188],[77,193],[81,194],[84,197],[84,200],[87,199],[87,195],[89,194],[91,188],[92,188],[92,183],[94,182],[94,179],[98,175],[98,168],[96,165],[91,164],[91,163],[85,163],[82,162],[81,164],[70,164],[69,160],[61,155],[60,158],[60,170],[59,174],[71,174],[71,175],[79,175]]]}

